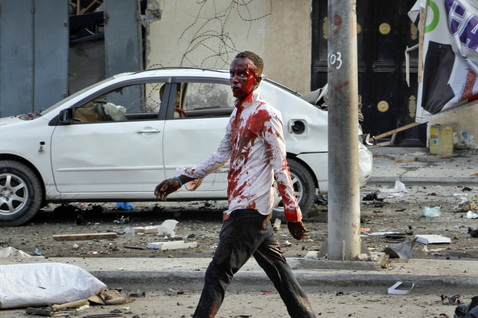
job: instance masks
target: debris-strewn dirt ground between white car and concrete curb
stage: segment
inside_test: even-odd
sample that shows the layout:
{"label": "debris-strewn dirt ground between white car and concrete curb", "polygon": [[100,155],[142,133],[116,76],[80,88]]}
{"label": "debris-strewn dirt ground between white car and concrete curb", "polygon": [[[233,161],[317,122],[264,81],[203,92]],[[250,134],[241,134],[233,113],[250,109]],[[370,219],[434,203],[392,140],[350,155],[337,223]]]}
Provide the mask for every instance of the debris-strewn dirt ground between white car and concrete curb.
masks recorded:
{"label": "debris-strewn dirt ground between white car and concrete curb", "polygon": [[[381,251],[385,246],[412,239],[416,234],[437,234],[452,240],[450,244],[428,245],[429,252],[423,251],[423,244],[417,243],[412,258],[440,259],[478,259],[478,238],[468,234],[468,228],[478,228],[478,219],[467,219],[466,212],[453,212],[463,198],[470,198],[478,189],[463,191],[459,186],[407,186],[402,197],[389,197],[379,189],[392,186],[367,185],[361,189],[361,198],[366,194],[377,193],[383,201],[360,201],[361,228],[365,233],[394,231],[406,233],[413,231],[403,239],[386,239],[383,236],[362,237],[372,251]],[[32,221],[21,227],[1,228],[0,245],[12,246],[32,254],[38,249],[46,257],[211,257],[218,242],[222,225],[222,214],[227,209],[227,201],[190,201],[190,202],[138,202],[131,203],[133,210],[122,211],[116,203],[96,203],[103,211],[72,209],[54,213],[59,205],[49,204]],[[441,207],[438,217],[420,217],[428,207]],[[84,222],[78,222],[81,214]],[[126,224],[114,221],[129,218]],[[158,251],[148,249],[149,242],[164,241],[164,237],[154,234],[119,235],[117,239],[93,239],[79,241],[55,241],[53,235],[114,232],[125,227],[159,225],[164,220],[175,219],[175,234],[188,237],[185,241],[196,241],[198,247]],[[327,206],[314,204],[304,223],[311,230],[307,239],[297,241],[282,224],[276,232],[276,239],[286,257],[304,256],[310,250],[319,250],[327,239]],[[273,221],[273,220],[272,220]],[[368,230],[369,229],[369,230]],[[409,232],[410,233],[410,232]],[[179,238],[180,239],[180,238]],[[183,238],[184,239],[184,238]],[[287,243],[288,242],[288,243]],[[75,248],[74,244],[78,247]],[[435,249],[435,251],[433,251]],[[436,250],[441,249],[441,250]],[[91,252],[97,252],[91,254]]]}

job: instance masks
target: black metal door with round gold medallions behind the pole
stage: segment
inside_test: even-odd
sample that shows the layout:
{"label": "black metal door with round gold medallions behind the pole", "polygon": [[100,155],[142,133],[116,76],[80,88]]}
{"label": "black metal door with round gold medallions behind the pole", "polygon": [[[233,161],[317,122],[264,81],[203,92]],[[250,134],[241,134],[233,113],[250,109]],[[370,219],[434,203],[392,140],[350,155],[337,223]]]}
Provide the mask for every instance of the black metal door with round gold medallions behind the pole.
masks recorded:
{"label": "black metal door with round gold medallions behind the pole", "polygon": [[[327,2],[312,2],[311,89],[327,83]],[[410,52],[410,87],[405,80],[405,49],[418,43],[416,24],[407,16],[414,2],[357,1],[359,110],[371,136],[415,121],[418,50]],[[398,133],[394,145],[425,147],[426,124]]]}

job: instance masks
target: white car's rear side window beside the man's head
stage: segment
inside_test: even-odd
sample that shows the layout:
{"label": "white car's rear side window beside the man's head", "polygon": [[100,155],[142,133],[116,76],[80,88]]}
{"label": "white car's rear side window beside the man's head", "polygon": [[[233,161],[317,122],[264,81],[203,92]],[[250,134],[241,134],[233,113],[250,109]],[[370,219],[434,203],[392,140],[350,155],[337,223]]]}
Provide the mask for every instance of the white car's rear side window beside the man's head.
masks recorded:
{"label": "white car's rear side window beside the man's head", "polygon": [[229,116],[234,109],[230,85],[188,82],[178,83],[177,89],[175,118]]}

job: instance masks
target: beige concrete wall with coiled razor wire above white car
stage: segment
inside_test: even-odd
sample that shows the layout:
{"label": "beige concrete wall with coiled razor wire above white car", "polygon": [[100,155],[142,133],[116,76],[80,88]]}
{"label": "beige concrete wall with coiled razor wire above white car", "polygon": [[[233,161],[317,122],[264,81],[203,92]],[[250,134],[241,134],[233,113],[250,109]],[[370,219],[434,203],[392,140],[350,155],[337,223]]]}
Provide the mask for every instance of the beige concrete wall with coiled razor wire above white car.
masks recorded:
{"label": "beige concrete wall with coiled razor wire above white car", "polygon": [[311,0],[156,0],[161,19],[149,24],[146,68],[229,69],[240,51],[264,60],[263,74],[309,92]]}

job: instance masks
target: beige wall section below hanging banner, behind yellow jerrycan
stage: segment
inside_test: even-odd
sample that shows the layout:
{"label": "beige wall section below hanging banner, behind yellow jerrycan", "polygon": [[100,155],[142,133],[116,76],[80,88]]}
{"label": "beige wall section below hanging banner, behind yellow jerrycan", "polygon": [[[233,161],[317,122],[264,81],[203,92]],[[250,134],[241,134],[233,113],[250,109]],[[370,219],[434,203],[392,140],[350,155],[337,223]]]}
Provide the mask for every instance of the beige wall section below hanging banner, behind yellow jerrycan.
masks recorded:
{"label": "beige wall section below hanging banner, behind yellow jerrycan", "polygon": [[478,149],[478,105],[456,111],[428,123],[428,137],[430,140],[430,126],[447,124],[452,126],[455,148]]}

